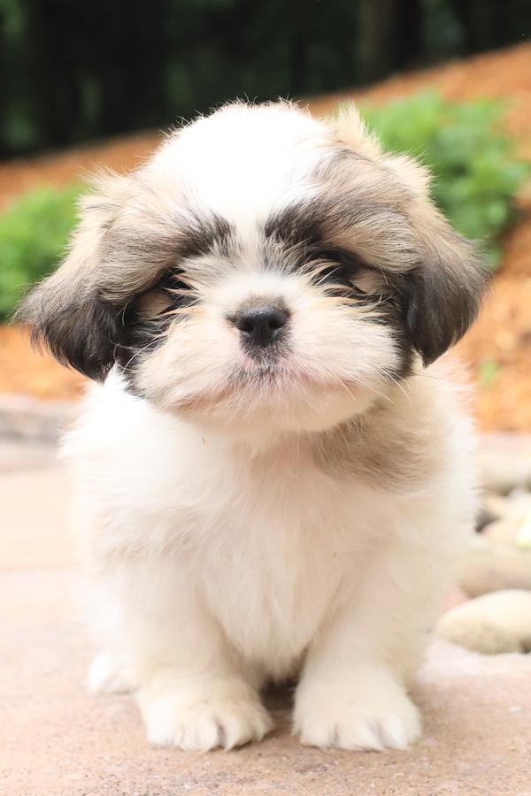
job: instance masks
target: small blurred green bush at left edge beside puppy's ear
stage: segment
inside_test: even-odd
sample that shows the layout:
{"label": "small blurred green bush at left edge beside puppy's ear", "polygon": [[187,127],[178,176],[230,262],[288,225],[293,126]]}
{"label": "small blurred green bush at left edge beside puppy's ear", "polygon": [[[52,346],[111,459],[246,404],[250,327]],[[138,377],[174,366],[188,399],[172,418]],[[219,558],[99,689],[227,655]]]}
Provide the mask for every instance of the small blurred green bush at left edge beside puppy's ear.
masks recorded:
{"label": "small blurred green bush at left edge beside puppy's ear", "polygon": [[0,214],[0,318],[58,264],[76,218],[79,185],[38,188]]}

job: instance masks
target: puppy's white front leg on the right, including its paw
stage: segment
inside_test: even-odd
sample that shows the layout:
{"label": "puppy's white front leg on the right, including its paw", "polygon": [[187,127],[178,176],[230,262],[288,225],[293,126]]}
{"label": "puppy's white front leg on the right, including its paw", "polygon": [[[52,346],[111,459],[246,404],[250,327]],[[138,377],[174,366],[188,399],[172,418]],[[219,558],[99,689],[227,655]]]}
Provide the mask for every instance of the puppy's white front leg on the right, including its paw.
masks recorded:
{"label": "puppy's white front leg on the right, including its paw", "polygon": [[405,689],[436,615],[441,565],[433,551],[388,543],[352,572],[356,586],[314,639],[296,691],[304,744],[404,749],[419,738]]}

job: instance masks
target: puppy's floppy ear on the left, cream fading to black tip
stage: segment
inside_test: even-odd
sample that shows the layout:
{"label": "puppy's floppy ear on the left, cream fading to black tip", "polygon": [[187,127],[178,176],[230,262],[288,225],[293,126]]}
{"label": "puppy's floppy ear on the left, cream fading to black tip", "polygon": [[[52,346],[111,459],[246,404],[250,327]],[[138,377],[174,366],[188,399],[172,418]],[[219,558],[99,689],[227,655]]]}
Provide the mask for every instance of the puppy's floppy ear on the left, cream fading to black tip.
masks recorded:
{"label": "puppy's floppy ear on the left, cream fading to black tip", "polygon": [[123,308],[99,294],[100,248],[105,229],[120,206],[121,183],[108,174],[97,180],[100,193],[81,201],[81,223],[58,271],[22,302],[16,318],[33,325],[32,341],[59,362],[90,379],[102,380],[114,363]]}

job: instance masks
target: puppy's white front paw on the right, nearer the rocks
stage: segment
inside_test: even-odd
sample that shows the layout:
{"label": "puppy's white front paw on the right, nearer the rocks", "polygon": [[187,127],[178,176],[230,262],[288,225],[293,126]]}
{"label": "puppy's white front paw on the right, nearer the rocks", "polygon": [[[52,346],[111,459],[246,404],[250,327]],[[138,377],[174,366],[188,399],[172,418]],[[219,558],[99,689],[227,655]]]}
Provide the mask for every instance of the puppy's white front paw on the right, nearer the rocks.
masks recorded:
{"label": "puppy's white front paw on the right, nearer the rocks", "polygon": [[294,732],[309,746],[406,749],[419,739],[419,710],[388,673],[354,670],[299,685]]}

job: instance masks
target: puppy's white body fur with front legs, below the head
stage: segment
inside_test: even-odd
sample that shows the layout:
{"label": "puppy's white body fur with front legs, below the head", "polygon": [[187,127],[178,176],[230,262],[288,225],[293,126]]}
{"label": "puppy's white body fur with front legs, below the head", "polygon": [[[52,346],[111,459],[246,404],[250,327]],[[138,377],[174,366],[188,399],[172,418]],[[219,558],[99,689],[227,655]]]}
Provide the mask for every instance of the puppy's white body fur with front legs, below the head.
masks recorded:
{"label": "puppy's white body fur with front legs, below the head", "polygon": [[[404,688],[473,511],[467,427],[448,412],[447,471],[396,495],[327,477],[304,438],[257,453],[152,408],[115,375],[93,388],[67,444],[75,523],[96,626],[140,686],[152,741],[260,739],[271,724],[255,689],[304,662],[304,743],[418,737]],[[118,675],[100,687],[121,690]]]}

